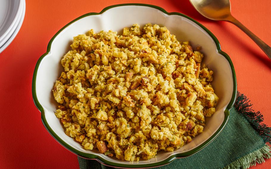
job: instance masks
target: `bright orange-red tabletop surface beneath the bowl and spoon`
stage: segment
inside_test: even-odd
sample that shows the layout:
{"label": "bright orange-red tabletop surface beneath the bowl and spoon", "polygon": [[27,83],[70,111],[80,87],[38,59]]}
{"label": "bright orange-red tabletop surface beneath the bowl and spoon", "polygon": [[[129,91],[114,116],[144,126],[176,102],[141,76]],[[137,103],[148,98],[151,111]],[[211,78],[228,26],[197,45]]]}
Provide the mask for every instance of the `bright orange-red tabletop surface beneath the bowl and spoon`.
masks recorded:
{"label": "bright orange-red tabletop surface beneath the bowl and spoon", "polygon": [[[234,64],[238,90],[250,98],[253,108],[271,126],[271,61],[236,26],[205,19],[189,0],[27,0],[21,30],[0,54],[0,168],[79,168],[76,155],[57,143],[43,127],[41,114],[32,101],[34,67],[52,36],[71,20],[88,12],[100,12],[109,5],[132,2],[184,13],[213,32]],[[269,0],[231,0],[231,6],[237,19],[271,45]],[[271,159],[252,168],[270,167]]]}

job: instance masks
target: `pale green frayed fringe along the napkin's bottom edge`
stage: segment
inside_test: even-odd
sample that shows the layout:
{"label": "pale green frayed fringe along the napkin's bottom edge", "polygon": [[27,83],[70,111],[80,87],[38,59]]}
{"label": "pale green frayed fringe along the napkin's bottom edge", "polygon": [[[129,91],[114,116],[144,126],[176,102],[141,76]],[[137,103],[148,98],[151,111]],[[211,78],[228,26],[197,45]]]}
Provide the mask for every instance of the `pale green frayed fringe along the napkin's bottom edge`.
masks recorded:
{"label": "pale green frayed fringe along the napkin's bottom edge", "polygon": [[263,147],[259,148],[256,151],[253,151],[234,162],[230,163],[223,169],[247,169],[251,166],[255,166],[256,162],[258,164],[261,164],[262,162],[265,162],[264,159],[269,159],[271,157],[271,149],[268,145],[264,145]]}

